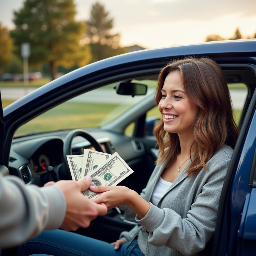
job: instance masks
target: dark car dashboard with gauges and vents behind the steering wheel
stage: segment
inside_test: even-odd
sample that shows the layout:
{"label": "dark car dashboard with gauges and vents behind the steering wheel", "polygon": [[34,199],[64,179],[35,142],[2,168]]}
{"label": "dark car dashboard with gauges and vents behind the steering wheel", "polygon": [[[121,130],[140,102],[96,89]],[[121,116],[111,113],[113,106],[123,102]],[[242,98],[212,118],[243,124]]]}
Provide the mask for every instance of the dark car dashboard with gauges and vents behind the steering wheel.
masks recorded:
{"label": "dark car dashboard with gauges and vents behind the steering wheel", "polygon": [[[69,132],[70,130],[64,130],[13,138],[9,155],[9,174],[22,178],[26,184],[38,186],[43,186],[49,181],[71,179],[63,158],[63,145]],[[157,158],[156,153],[152,151],[157,152],[154,148],[155,137],[135,138],[98,128],[87,129],[87,132],[97,140],[104,152],[118,152],[137,173],[136,179],[133,176],[128,177],[122,181],[122,185],[140,192],[154,169],[154,161]],[[86,148],[92,146],[85,138],[73,138],[72,155],[81,155]],[[54,173],[47,171],[48,166],[54,168]]]}

